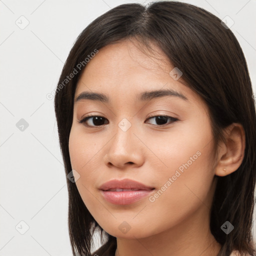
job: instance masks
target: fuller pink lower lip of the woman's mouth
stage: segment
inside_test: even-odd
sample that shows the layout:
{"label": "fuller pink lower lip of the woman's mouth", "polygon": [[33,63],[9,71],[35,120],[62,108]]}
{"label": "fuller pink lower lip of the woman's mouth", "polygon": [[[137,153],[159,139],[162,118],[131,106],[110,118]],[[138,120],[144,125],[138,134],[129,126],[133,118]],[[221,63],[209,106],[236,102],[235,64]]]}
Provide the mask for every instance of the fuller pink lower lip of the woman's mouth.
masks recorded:
{"label": "fuller pink lower lip of the woman's mouth", "polygon": [[103,197],[113,204],[130,204],[140,200],[141,198],[149,195],[154,189],[151,190],[130,190],[130,191],[103,191],[100,190]]}

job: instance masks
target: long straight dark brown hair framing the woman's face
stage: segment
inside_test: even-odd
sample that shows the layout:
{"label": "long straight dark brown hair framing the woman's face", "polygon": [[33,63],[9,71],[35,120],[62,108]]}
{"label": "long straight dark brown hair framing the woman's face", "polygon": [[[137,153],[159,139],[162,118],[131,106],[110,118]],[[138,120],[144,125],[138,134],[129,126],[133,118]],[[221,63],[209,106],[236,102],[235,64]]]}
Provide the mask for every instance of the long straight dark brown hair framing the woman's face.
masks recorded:
{"label": "long straight dark brown hair framing the woman's face", "polygon": [[[152,2],[148,6],[122,4],[97,17],[79,34],[62,69],[54,98],[65,173],[71,171],[68,138],[74,91],[86,68],[84,59],[95,49],[100,51],[103,46],[126,38],[135,38],[141,47],[150,48],[149,42],[156,43],[173,66],[182,71],[182,81],[208,105],[215,145],[223,138],[224,127],[232,122],[243,125],[244,158],[236,171],[217,177],[210,229],[222,245],[218,256],[229,255],[234,249],[253,255],[256,115],[251,81],[234,34],[219,18],[202,8],[176,1]],[[66,81],[66,76],[74,70],[77,74]],[[98,227],[101,235],[104,230],[84,205],[75,183],[66,180],[72,252],[73,255],[90,255],[94,229]],[[226,220],[234,225],[229,234],[220,228]],[[115,237],[105,235],[106,247],[110,243],[116,245]]]}

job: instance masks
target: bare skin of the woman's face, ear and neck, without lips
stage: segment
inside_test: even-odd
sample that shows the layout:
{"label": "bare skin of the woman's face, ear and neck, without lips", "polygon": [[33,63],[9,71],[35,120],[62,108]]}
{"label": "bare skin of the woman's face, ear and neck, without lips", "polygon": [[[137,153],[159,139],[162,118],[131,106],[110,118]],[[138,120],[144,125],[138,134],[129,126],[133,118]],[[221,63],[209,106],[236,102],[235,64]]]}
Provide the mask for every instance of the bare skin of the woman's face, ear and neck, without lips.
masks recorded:
{"label": "bare skin of the woman's face, ear and neck, without lips", "polygon": [[[226,128],[213,157],[213,136],[207,105],[189,87],[169,75],[173,66],[155,45],[157,57],[141,52],[130,40],[107,45],[87,63],[76,87],[105,93],[110,102],[82,99],[74,103],[69,137],[72,169],[83,202],[97,223],[117,238],[115,256],[217,255],[220,244],[209,229],[216,175],[228,175],[241,164],[244,131],[234,123]],[[136,94],[172,88],[187,97],[156,97],[139,101]],[[78,121],[93,114],[106,118]],[[150,116],[178,118],[166,125]],[[118,123],[126,118],[126,131]],[[103,119],[104,120],[104,119]],[[104,123],[104,121],[102,121]],[[196,152],[200,155],[155,200],[146,196],[129,205],[106,201],[98,187],[110,179],[130,178],[161,189],[169,177]],[[226,171],[223,170],[226,168]],[[130,229],[118,227],[126,221]]]}

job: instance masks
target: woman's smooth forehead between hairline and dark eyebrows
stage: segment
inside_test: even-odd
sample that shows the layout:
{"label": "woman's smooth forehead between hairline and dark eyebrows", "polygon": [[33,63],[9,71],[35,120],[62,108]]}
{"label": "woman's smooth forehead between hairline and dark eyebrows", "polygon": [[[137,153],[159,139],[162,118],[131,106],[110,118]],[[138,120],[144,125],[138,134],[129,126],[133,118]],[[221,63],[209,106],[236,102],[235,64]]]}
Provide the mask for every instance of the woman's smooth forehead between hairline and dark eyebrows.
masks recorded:
{"label": "woman's smooth forehead between hairline and dark eyebrows", "polygon": [[111,102],[111,98],[133,98],[145,91],[172,89],[198,100],[198,95],[181,79],[170,76],[173,65],[164,53],[153,44],[151,47],[153,55],[125,39],[100,48],[86,64],[77,82],[75,98],[83,91],[102,92]]}

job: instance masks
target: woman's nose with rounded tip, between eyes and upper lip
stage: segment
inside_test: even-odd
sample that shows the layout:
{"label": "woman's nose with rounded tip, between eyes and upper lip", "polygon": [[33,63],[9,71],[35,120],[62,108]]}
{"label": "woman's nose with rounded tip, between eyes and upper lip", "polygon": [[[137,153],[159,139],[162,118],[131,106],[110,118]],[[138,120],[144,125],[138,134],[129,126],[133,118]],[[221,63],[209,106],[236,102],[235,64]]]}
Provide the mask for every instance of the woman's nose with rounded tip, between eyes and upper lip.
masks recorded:
{"label": "woman's nose with rounded tip, between eyes and upper lip", "polygon": [[115,135],[107,143],[104,163],[124,169],[138,167],[143,161],[143,143],[134,134],[133,126],[125,131],[117,125]]}

